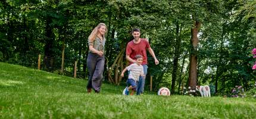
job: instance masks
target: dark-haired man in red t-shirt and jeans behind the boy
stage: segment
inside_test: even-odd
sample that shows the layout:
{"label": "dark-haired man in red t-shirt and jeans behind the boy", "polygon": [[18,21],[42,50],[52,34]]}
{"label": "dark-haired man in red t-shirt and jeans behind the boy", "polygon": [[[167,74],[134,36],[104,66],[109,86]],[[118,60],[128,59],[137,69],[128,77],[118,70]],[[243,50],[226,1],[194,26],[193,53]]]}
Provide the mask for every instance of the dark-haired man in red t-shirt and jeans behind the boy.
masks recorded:
{"label": "dark-haired man in red t-shirt and jeans behind the boy", "polygon": [[[141,31],[139,29],[137,28],[133,29],[132,36],[134,39],[130,41],[126,47],[126,60],[129,61],[129,64],[133,64],[134,62],[136,62],[135,55],[142,55],[143,56],[142,65],[143,65],[144,74],[146,76],[146,73],[148,71],[148,66],[147,66],[148,58],[146,57],[146,49],[148,50],[149,54],[151,54],[152,57],[154,58],[155,65],[158,65],[159,61],[155,57],[155,53],[153,49],[150,48],[148,40],[140,38]],[[144,85],[145,85],[145,77],[140,76],[139,83],[137,86],[137,95],[141,95],[141,93],[143,93]]]}

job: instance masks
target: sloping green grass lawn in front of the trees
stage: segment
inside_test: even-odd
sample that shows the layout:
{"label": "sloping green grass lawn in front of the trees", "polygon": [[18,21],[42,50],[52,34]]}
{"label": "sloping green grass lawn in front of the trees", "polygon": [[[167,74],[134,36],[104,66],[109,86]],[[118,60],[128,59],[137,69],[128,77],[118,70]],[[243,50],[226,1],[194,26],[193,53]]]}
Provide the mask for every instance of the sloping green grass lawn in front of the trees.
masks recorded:
{"label": "sloping green grass lawn in front of the trees", "polygon": [[0,62],[0,118],[256,118],[256,99],[121,95],[103,84]]}

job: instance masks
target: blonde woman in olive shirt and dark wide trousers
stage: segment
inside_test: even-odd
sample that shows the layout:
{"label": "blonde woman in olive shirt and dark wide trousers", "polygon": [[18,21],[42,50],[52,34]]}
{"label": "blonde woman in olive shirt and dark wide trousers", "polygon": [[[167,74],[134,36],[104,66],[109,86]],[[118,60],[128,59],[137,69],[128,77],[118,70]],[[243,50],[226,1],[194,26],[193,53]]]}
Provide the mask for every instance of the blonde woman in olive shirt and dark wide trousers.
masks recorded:
{"label": "blonde woman in olive shirt and dark wide trousers", "polygon": [[104,48],[105,48],[105,33],[107,33],[107,26],[104,23],[99,23],[88,38],[89,54],[87,58],[87,66],[89,70],[89,79],[87,84],[87,92],[90,93],[92,89],[99,93],[101,90],[101,83],[104,71]]}

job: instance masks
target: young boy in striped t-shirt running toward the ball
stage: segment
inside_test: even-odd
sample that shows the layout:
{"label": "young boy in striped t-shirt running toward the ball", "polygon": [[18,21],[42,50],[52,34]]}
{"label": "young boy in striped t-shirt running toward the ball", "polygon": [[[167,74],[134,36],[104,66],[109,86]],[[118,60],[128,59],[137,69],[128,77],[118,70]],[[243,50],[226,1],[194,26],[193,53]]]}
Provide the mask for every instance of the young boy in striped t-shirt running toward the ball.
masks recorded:
{"label": "young boy in striped t-shirt running toward the ball", "polygon": [[136,55],[135,59],[136,59],[136,62],[124,68],[124,70],[121,73],[121,76],[123,77],[124,72],[126,70],[130,71],[127,79],[127,87],[126,87],[125,95],[129,95],[130,89],[132,89],[132,92],[130,95],[133,95],[134,91],[136,90],[137,83],[139,81],[139,76],[145,76],[143,71],[143,66],[141,65],[143,61],[142,55]]}

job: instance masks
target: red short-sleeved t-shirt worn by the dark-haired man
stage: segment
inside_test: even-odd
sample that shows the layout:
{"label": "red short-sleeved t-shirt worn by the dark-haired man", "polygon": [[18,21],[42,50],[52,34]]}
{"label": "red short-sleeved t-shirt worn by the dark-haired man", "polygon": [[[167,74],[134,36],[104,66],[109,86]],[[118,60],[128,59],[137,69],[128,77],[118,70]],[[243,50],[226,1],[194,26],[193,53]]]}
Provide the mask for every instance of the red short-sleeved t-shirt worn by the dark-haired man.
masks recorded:
{"label": "red short-sleeved t-shirt worn by the dark-haired man", "polygon": [[[141,39],[141,42],[139,43],[134,43],[133,40],[130,41],[127,44],[126,47],[126,55],[129,55],[130,58],[133,60],[135,59],[136,55],[142,55],[143,56],[143,61],[142,65],[148,64],[148,58],[146,57],[146,49],[150,48],[150,45],[146,39]],[[132,64],[133,62],[129,62],[129,64]]]}

